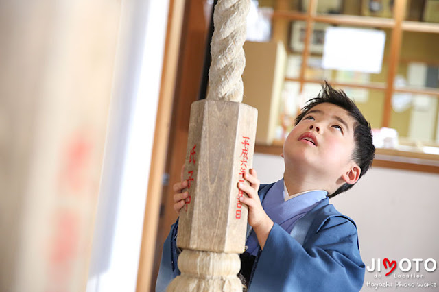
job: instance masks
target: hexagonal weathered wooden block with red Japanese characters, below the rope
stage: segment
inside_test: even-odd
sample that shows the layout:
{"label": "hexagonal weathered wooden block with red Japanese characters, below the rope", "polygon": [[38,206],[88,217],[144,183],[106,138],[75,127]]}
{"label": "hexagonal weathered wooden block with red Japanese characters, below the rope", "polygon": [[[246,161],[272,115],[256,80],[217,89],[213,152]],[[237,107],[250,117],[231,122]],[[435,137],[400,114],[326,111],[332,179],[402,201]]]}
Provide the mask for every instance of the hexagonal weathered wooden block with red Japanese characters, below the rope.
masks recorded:
{"label": "hexagonal weathered wooden block with red Japanese characters, below the rope", "polygon": [[233,101],[191,106],[177,245],[210,252],[244,252],[248,210],[238,201],[241,169],[252,167],[257,110]]}

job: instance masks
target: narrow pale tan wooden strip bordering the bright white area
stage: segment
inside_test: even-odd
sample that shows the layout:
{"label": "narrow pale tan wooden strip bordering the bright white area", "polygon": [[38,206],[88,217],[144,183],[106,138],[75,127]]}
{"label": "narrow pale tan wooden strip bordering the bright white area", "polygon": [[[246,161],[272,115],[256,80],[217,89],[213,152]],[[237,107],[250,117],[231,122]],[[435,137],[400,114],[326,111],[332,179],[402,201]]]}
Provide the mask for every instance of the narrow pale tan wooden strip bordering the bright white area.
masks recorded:
{"label": "narrow pale tan wooden strip bordering the bright white area", "polygon": [[[166,150],[169,138],[172,101],[176,83],[178,51],[185,1],[170,0],[163,57],[160,97],[156,117],[156,130],[152,146],[150,178],[148,180],[147,202],[143,219],[143,234],[137,272],[136,291],[149,291],[156,247],[158,215],[161,203],[161,187],[165,172]],[[154,279],[155,280],[155,279]],[[155,282],[155,281],[154,281]]]}

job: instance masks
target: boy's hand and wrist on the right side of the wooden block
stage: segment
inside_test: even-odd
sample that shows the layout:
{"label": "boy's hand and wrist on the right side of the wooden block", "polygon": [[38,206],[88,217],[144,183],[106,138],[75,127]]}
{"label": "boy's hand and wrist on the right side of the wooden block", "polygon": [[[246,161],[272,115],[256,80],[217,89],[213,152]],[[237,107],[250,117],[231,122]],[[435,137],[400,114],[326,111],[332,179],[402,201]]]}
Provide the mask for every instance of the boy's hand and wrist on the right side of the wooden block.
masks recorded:
{"label": "boy's hand and wrist on the right side of the wooden block", "polygon": [[238,188],[248,195],[241,196],[239,201],[248,206],[248,223],[253,227],[254,232],[259,241],[261,249],[267,241],[268,234],[274,225],[272,219],[268,217],[267,213],[262,208],[261,199],[259,199],[258,190],[261,182],[257,178],[257,173],[254,169],[250,169],[250,173],[245,173],[244,178],[250,182],[247,184],[238,184]]}

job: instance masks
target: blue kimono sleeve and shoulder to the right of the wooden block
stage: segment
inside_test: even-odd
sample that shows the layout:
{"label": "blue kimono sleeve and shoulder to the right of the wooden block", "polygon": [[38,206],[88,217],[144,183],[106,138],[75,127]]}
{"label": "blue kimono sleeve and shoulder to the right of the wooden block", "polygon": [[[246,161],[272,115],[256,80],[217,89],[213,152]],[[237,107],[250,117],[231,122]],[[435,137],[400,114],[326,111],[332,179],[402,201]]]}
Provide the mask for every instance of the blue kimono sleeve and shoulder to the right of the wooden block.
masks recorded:
{"label": "blue kimono sleeve and shoulder to the right of the wooden block", "polygon": [[249,291],[359,291],[364,282],[357,228],[342,216],[303,246],[275,223],[255,265]]}

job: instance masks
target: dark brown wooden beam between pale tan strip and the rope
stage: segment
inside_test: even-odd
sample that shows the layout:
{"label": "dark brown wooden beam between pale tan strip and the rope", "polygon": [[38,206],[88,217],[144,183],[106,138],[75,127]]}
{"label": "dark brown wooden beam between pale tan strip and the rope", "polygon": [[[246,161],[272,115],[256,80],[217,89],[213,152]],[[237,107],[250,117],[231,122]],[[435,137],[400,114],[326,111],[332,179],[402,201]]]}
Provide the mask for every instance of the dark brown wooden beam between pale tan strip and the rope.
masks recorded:
{"label": "dark brown wooden beam between pale tan strip and the rope", "polygon": [[[154,271],[151,290],[155,291],[156,278],[160,267],[163,242],[169,233],[169,227],[176,220],[176,212],[172,208],[172,184],[180,180],[180,169],[185,161],[187,130],[189,127],[189,107],[198,98],[204,50],[208,34],[212,5],[204,1],[185,1],[184,17],[180,32],[181,44],[178,49],[178,66],[174,90],[174,105],[167,144],[167,162],[165,172],[169,173],[169,183],[161,188],[161,212],[156,236],[156,252],[154,254]],[[208,15],[209,14],[209,15]],[[187,119],[187,120],[186,120]]]}

